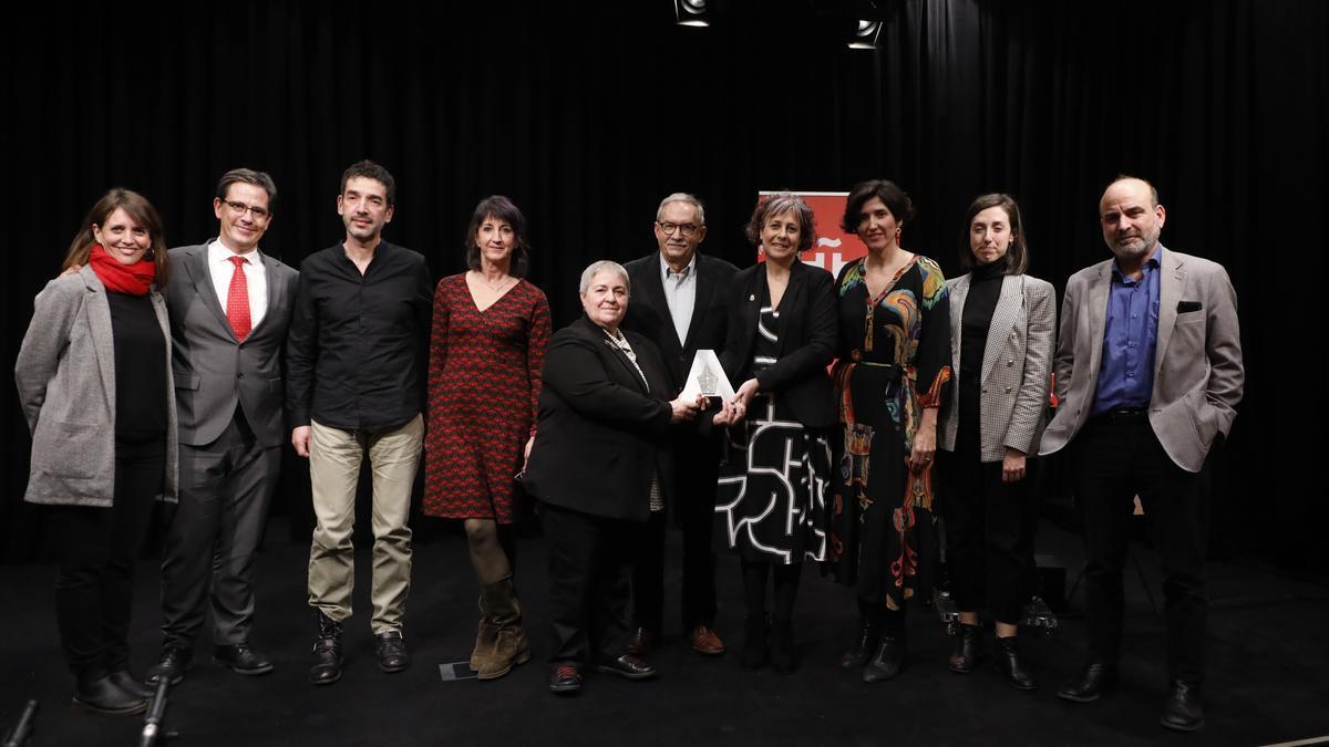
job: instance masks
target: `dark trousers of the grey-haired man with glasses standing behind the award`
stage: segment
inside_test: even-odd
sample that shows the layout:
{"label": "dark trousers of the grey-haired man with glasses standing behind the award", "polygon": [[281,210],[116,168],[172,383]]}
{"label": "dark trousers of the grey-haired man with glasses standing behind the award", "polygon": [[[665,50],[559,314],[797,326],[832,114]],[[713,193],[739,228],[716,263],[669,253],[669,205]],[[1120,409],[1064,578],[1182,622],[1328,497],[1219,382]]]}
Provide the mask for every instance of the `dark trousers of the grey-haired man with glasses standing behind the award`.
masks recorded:
{"label": "dark trousers of the grey-haired man with glasses standing behind the award", "polygon": [[[671,510],[683,530],[683,633],[715,623],[715,481],[719,444],[696,436],[674,441]],[[659,633],[664,618],[666,520],[651,514],[633,557],[633,625]]]}

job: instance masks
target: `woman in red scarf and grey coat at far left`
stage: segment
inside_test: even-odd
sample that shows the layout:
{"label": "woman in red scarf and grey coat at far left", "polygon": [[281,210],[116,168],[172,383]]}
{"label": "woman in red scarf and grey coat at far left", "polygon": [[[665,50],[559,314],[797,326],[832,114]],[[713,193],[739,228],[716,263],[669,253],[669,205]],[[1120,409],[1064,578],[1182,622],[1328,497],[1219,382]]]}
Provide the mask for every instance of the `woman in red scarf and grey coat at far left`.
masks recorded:
{"label": "woman in red scarf and grey coat at far left", "polygon": [[15,380],[32,433],[24,498],[52,506],[60,537],[56,622],[73,704],[137,714],[129,673],[134,558],[153,501],[175,501],[175,391],[158,288],[167,254],[157,210],[113,189],[69,245],[66,270],[37,294]]}

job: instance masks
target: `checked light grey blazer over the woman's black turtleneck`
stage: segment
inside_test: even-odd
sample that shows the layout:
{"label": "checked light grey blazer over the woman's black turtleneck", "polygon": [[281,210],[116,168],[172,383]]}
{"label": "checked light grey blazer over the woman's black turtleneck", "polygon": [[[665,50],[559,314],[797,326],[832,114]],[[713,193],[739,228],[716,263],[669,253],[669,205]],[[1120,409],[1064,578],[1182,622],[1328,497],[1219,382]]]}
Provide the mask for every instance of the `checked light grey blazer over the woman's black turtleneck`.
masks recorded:
{"label": "checked light grey blazer over the woman's black turtleneck", "polygon": [[[960,372],[961,320],[971,275],[946,280],[950,292],[950,360]],[[1053,342],[1057,328],[1057,291],[1047,280],[1029,275],[1002,278],[1001,295],[983,346],[979,396],[979,452],[982,461],[1001,461],[1006,448],[1033,453],[1042,433],[1047,392],[1053,387]],[[956,451],[960,387],[941,413],[940,448]]]}

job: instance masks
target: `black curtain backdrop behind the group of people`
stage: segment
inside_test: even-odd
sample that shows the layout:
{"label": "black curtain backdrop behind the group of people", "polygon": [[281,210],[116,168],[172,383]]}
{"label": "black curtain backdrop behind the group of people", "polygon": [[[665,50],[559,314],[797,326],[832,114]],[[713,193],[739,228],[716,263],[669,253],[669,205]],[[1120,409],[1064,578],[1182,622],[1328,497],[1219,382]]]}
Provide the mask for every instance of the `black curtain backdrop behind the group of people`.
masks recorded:
{"label": "black curtain backdrop behind the group of people", "polygon": [[[1108,257],[1098,197],[1128,173],[1158,186],[1164,243],[1225,265],[1240,298],[1247,393],[1216,464],[1215,552],[1329,566],[1313,479],[1324,3],[885,0],[874,52],[844,45],[860,3],[720,0],[708,29],[674,25],[670,0],[453,5],[29,7],[0,78],[4,362],[113,185],[158,206],[169,243],[197,243],[217,231],[217,178],[266,170],[280,198],[262,249],[298,265],[340,241],[338,179],[372,158],[399,183],[388,238],[436,276],[462,268],[474,203],[508,194],[561,324],[585,265],[654,249],[670,191],[706,201],[703,251],[743,266],[758,190],[892,178],[918,206],[904,246],[948,274],[965,206],[1009,191],[1030,272],[1061,290]],[[4,413],[0,554],[15,560],[44,541],[21,502],[31,441],[12,389]],[[278,510],[307,516],[302,480],[288,471]]]}

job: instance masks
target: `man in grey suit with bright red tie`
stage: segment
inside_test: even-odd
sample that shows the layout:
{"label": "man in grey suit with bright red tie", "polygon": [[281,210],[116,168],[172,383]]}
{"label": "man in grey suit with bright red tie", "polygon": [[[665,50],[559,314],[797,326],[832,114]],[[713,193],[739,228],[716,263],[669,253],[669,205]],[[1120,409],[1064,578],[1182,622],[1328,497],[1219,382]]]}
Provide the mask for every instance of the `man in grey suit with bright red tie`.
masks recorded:
{"label": "man in grey suit with bright red tie", "polygon": [[179,506],[162,557],[162,654],[148,671],[179,682],[211,602],[214,661],[239,674],[272,662],[250,645],[254,560],[286,427],[282,351],[296,272],[258,250],[276,186],[234,169],[213,198],[218,238],[170,250]]}

